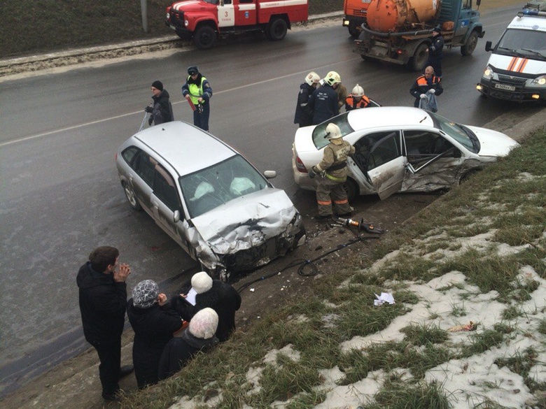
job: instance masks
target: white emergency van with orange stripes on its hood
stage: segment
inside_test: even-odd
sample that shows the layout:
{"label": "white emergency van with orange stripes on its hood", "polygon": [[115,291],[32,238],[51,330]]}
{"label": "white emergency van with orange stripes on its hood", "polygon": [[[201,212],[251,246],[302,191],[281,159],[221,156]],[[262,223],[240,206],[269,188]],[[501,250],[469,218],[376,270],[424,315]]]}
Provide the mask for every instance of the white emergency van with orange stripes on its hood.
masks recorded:
{"label": "white emergency van with orange stripes on its hood", "polygon": [[492,51],[479,92],[508,101],[546,103],[546,1],[531,1],[506,28]]}

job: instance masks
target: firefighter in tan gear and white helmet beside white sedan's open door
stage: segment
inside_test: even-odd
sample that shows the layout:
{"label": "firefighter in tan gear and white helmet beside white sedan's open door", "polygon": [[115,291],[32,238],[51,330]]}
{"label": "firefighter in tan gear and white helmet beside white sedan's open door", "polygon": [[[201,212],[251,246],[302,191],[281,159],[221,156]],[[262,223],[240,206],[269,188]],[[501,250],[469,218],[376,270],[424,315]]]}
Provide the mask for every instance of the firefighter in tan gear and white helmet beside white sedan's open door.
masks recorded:
{"label": "firefighter in tan gear and white helmet beside white sedan's open door", "polygon": [[330,143],[324,148],[322,161],[309,171],[309,178],[314,178],[317,173],[322,176],[316,188],[318,216],[315,218],[324,220],[331,217],[332,201],[337,216],[349,217],[352,209],[343,185],[347,179],[347,157],[355,152],[355,148],[343,140],[341,130],[336,124],[328,124],[324,137]]}

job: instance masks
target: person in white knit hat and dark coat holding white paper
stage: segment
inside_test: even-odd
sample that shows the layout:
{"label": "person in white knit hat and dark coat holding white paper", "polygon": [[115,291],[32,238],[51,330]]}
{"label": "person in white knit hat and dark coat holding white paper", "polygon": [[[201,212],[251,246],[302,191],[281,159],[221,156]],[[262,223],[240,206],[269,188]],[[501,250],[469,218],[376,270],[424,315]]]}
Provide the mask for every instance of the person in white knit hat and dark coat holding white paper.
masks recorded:
{"label": "person in white knit hat and dark coat holding white paper", "polygon": [[220,342],[228,340],[235,331],[235,312],[241,307],[241,295],[227,282],[213,280],[206,271],[195,273],[191,282],[197,292],[195,306],[181,300],[186,294],[181,294],[178,297],[179,302],[174,302],[173,306],[182,319],[189,322],[198,311],[207,307],[212,308],[218,314],[216,336]]}

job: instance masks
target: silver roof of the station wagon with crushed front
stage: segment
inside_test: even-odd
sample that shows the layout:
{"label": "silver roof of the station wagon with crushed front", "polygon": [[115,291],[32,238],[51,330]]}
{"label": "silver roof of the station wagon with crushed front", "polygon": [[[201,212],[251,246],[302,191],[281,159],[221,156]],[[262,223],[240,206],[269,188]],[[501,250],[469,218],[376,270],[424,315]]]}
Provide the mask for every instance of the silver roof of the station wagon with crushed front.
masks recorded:
{"label": "silver roof of the station wagon with crushed front", "polygon": [[208,168],[237,154],[218,138],[182,121],[148,128],[132,138],[169,162],[179,175]]}

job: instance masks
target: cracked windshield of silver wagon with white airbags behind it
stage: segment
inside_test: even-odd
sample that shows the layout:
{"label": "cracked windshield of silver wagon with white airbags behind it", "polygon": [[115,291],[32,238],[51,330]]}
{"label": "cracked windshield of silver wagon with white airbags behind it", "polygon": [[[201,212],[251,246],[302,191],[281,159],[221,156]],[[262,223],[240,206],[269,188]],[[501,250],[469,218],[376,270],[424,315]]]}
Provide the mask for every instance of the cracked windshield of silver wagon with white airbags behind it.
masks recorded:
{"label": "cracked windshield of silver wagon with white airbags behind it", "polygon": [[184,175],[179,182],[190,217],[269,186],[265,177],[241,155]]}

